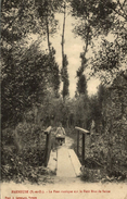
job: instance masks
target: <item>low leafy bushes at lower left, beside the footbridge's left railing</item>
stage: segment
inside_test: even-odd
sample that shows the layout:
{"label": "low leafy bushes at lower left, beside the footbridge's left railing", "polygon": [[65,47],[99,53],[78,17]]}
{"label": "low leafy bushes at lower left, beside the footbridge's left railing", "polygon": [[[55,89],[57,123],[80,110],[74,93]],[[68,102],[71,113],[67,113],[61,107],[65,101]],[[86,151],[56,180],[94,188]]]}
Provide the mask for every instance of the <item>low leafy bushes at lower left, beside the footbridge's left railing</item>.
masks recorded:
{"label": "low leafy bushes at lower left, beside the footbridge's left railing", "polygon": [[34,124],[31,111],[25,114],[25,120],[26,122],[20,123],[15,129],[2,130],[2,181],[38,183],[48,174],[48,170],[42,165],[46,136],[41,126]]}

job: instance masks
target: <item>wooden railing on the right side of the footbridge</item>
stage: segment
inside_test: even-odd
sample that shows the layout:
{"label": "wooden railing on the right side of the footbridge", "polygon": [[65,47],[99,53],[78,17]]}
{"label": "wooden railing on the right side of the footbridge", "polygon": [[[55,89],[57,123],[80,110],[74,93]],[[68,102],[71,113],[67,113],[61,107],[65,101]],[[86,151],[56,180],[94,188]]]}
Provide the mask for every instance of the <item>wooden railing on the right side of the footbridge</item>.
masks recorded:
{"label": "wooden railing on the right side of the footbridge", "polygon": [[[84,165],[85,164],[85,137],[86,137],[86,134],[89,135],[90,132],[77,126],[75,126],[75,128],[77,129],[77,156],[79,157],[79,148],[81,147],[81,164]],[[81,146],[79,144],[80,141],[79,134],[81,134]]]}

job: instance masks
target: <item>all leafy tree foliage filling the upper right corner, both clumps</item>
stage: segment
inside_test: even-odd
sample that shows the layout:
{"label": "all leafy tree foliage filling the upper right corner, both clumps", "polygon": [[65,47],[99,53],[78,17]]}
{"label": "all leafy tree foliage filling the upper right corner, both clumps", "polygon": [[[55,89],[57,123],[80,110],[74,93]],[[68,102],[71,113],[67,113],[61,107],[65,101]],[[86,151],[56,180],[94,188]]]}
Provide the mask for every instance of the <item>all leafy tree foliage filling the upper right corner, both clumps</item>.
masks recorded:
{"label": "all leafy tree foliage filling the upper right corner, both clumps", "polygon": [[[104,37],[99,54],[96,48],[96,62],[93,57],[89,66],[93,70],[92,75],[98,71],[107,72],[112,76],[109,79],[111,82],[114,78],[113,73],[117,74],[124,65],[123,62],[127,60],[127,1],[73,0],[71,5],[72,14],[78,17],[78,24],[75,26],[76,34],[81,36],[85,41],[89,36],[89,45],[92,45],[94,38]],[[114,41],[110,43],[106,36],[114,36]]]}

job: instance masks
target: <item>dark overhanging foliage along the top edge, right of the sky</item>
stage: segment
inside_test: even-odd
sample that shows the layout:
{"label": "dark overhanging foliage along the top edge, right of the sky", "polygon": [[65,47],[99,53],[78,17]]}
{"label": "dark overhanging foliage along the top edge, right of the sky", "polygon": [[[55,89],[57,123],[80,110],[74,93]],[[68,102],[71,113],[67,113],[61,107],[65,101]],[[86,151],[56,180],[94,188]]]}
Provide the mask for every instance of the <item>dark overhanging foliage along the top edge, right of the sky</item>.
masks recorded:
{"label": "dark overhanging foliage along the top edge, right of the sky", "polygon": [[[120,20],[126,21],[126,1],[120,3],[119,1],[113,0],[99,0],[99,1],[71,1],[72,14],[79,17],[82,21],[77,28],[89,27],[90,35],[92,37],[99,36],[100,34],[107,34],[112,30],[112,27],[117,25]],[[117,18],[116,16],[122,16]],[[119,29],[119,28],[118,28]],[[116,30],[116,29],[115,29]],[[79,33],[82,38],[85,37],[84,30],[79,29]]]}

